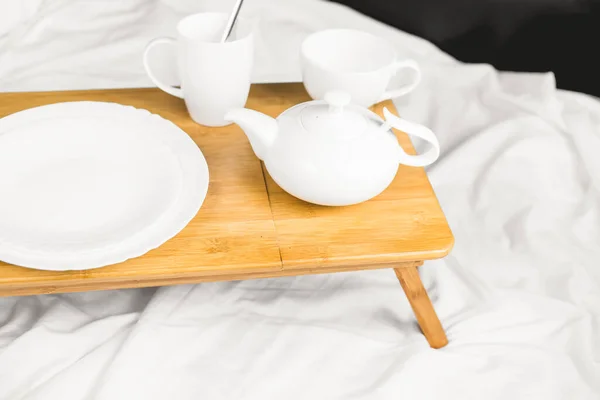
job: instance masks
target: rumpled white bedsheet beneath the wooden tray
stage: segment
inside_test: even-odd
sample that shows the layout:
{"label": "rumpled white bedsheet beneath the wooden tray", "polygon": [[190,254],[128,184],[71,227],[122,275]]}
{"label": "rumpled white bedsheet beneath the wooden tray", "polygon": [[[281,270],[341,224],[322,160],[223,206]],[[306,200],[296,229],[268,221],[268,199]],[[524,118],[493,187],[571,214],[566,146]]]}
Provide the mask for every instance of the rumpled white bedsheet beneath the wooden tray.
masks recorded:
{"label": "rumpled white bedsheet beneath the wooden tray", "polygon": [[[0,4],[15,91],[150,86],[145,43],[231,1]],[[421,274],[450,344],[428,347],[389,270],[3,298],[0,399],[600,398],[600,103],[336,4],[244,13],[261,18],[255,81],[298,79],[298,44],[333,26],[423,66],[397,105],[443,148],[429,176],[456,245]]]}

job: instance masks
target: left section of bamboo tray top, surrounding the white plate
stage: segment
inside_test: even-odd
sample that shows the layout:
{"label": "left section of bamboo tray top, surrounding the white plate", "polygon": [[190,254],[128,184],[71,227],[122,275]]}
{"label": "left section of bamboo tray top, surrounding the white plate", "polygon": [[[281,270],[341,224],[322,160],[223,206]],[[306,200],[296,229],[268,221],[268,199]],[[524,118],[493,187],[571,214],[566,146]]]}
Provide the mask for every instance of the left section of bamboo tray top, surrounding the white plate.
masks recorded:
{"label": "left section of bamboo tray top, surrounding the white plate", "polygon": [[198,144],[208,163],[206,200],[183,231],[142,257],[87,271],[37,271],[2,264],[0,287],[27,287],[33,283],[60,288],[85,283],[109,289],[118,282],[195,279],[222,274],[223,270],[243,274],[281,269],[261,165],[239,130],[194,123],[182,100],[158,89],[2,94],[0,116],[43,104],[79,100],[133,105],[176,123]]}

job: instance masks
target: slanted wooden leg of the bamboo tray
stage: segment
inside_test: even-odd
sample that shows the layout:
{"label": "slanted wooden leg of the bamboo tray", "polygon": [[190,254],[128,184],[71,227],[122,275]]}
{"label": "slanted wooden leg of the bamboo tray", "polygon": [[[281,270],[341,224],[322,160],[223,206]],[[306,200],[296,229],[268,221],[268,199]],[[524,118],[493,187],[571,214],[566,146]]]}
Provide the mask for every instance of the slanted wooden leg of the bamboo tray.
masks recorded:
{"label": "slanted wooden leg of the bamboo tray", "polygon": [[417,267],[394,268],[394,272],[429,345],[434,349],[447,345],[446,333],[423,287]]}

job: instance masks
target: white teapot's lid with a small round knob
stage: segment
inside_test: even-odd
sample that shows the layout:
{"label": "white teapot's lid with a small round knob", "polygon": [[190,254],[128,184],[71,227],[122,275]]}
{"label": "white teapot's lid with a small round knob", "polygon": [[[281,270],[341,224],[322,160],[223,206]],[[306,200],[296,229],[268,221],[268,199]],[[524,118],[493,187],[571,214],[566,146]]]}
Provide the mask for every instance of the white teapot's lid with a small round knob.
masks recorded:
{"label": "white teapot's lid with a small round knob", "polygon": [[[306,104],[300,114],[304,129],[311,133],[359,134],[367,129],[369,119],[361,107],[350,104],[350,94],[341,91],[327,92],[325,101]],[[372,123],[372,122],[371,122]]]}

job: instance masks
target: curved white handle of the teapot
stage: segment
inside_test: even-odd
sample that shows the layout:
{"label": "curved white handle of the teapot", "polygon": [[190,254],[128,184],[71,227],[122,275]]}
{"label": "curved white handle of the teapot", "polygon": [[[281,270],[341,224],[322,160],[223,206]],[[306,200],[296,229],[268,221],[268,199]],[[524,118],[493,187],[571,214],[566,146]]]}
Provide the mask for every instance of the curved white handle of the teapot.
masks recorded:
{"label": "curved white handle of the teapot", "polygon": [[419,155],[406,154],[402,147],[398,145],[398,147],[400,147],[400,164],[411,167],[425,167],[433,164],[438,159],[440,156],[440,143],[431,129],[397,117],[386,107],[383,108],[383,116],[385,118],[385,123],[382,125],[382,130],[388,131],[390,128],[396,128],[408,135],[420,137],[431,144],[431,147],[425,153]]}

